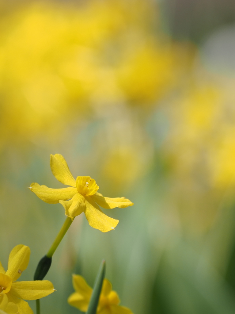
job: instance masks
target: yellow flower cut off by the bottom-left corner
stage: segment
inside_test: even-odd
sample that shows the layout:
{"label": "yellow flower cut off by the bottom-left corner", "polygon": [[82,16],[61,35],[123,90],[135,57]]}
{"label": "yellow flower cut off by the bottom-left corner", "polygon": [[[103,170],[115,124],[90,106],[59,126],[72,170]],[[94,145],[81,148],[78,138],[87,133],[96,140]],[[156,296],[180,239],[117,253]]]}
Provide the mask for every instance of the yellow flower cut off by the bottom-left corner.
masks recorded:
{"label": "yellow flower cut off by the bottom-left corner", "polygon": [[[13,248],[9,255],[7,272],[5,272],[0,262],[0,292],[1,294],[7,295],[10,302],[5,307],[4,311],[8,311],[10,307],[12,311],[9,311],[9,313],[11,314],[15,313],[15,306],[12,303],[18,307],[17,313],[33,314],[28,302],[24,300],[37,300],[55,291],[53,284],[48,280],[16,281],[27,268],[29,256],[29,247],[19,244]],[[0,309],[1,306],[4,308],[6,298],[3,296],[0,302]]]}

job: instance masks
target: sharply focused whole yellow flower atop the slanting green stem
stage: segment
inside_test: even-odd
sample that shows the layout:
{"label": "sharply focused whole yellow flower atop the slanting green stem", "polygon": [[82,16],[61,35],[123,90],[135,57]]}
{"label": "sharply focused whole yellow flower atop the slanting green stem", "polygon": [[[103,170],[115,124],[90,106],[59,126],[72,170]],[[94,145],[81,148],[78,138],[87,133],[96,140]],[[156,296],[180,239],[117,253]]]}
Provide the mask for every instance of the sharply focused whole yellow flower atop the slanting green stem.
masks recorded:
{"label": "sharply focused whole yellow flower atop the slanting green stem", "polygon": [[106,216],[98,205],[106,209],[133,205],[127,198],[103,197],[97,192],[99,187],[95,180],[89,176],[78,176],[75,180],[66,160],[60,154],[51,155],[51,171],[58,181],[70,187],[51,189],[45,185],[32,183],[31,191],[46,203],[61,203],[65,208],[65,214],[72,219],[84,212],[89,225],[102,232],[114,229],[119,221]]}

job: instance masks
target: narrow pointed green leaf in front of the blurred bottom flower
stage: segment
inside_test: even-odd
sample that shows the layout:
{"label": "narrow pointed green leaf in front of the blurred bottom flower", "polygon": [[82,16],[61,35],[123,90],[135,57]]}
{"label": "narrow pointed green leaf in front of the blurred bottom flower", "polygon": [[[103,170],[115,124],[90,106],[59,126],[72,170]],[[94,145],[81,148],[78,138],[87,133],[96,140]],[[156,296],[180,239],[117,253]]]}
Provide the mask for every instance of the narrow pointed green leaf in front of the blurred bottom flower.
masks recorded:
{"label": "narrow pointed green leaf in front of the blurred bottom flower", "polygon": [[105,276],[105,268],[106,268],[106,264],[105,264],[105,261],[103,260],[100,265],[100,268],[99,268],[99,271],[95,280],[93,292],[91,295],[91,300],[90,300],[88,311],[86,314],[96,314],[96,310],[97,310],[97,306],[99,302],[99,296],[101,293],[104,276]]}

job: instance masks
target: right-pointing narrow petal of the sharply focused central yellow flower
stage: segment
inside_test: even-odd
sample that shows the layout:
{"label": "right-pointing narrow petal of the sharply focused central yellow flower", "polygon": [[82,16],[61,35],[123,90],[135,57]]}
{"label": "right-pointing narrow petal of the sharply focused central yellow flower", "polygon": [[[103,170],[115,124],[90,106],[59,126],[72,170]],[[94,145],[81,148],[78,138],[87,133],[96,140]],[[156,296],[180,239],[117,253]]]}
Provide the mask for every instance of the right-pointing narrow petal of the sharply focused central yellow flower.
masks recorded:
{"label": "right-pointing narrow petal of the sharply focused central yellow flower", "polygon": [[125,208],[128,206],[132,206],[134,203],[132,203],[127,198],[117,197],[117,198],[109,198],[100,196],[97,194],[92,195],[93,200],[101,207],[109,209],[109,208]]}

